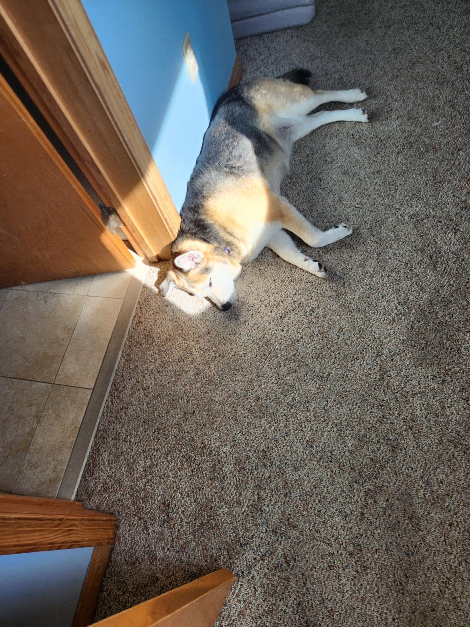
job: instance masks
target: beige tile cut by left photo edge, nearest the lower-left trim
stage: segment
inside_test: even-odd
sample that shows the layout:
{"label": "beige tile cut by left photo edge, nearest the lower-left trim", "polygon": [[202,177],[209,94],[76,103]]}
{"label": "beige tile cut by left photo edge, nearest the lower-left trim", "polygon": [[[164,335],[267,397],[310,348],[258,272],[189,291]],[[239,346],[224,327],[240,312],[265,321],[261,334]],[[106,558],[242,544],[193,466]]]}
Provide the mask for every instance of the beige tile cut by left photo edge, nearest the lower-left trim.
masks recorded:
{"label": "beige tile cut by left photo edge, nearest the lower-left trim", "polygon": [[11,491],[51,385],[0,377],[0,490]]}

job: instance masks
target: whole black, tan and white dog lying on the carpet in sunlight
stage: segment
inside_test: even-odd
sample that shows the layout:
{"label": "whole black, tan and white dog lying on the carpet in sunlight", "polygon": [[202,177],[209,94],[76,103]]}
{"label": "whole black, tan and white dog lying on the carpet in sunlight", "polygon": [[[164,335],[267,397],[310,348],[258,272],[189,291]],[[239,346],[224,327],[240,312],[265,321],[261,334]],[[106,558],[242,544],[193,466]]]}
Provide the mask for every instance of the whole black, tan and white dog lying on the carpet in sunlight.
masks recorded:
{"label": "whole black, tan and white dog lying on the carpet in sunlight", "polygon": [[352,233],[347,224],[320,231],[280,195],[292,144],[330,122],[367,122],[362,109],[311,113],[325,102],[358,102],[359,89],[321,92],[311,73],[293,70],[261,78],[224,94],[212,113],[201,154],[187,186],[171,269],[160,285],[209,298],[222,311],[235,301],[243,263],[268,246],[302,270],[327,278],[326,268],[296,248],[291,231],[313,248]]}

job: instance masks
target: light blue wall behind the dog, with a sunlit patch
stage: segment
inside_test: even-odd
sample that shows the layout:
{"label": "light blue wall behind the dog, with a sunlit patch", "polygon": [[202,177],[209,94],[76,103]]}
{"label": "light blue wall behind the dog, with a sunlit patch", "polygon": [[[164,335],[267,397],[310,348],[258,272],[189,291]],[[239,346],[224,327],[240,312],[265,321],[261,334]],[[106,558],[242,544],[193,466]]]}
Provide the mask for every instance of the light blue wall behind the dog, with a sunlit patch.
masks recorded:
{"label": "light blue wall behind the dog, with a sunlit patch", "polygon": [[[235,61],[226,0],[83,0],[178,211]],[[181,46],[199,65],[194,85]]]}

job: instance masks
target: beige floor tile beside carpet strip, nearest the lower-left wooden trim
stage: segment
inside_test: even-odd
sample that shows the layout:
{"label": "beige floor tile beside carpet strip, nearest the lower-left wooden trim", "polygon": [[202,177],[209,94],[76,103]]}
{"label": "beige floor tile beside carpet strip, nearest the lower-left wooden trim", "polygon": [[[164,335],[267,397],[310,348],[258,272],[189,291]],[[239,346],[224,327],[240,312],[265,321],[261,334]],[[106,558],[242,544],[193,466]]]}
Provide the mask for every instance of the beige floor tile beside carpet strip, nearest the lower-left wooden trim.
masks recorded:
{"label": "beige floor tile beside carpet strip, nearest the lower-left wooden trim", "polygon": [[91,390],[52,386],[13,487],[16,494],[55,497]]}

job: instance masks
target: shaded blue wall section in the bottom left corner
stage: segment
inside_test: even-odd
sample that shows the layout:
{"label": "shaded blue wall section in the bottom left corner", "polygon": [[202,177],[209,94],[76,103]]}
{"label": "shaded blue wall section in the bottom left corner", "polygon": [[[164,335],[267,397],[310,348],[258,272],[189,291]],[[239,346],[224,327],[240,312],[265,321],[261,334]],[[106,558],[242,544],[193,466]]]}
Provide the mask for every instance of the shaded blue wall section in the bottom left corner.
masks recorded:
{"label": "shaded blue wall section in the bottom left corner", "polygon": [[0,625],[70,627],[92,551],[0,556]]}

